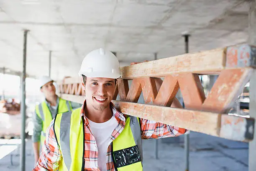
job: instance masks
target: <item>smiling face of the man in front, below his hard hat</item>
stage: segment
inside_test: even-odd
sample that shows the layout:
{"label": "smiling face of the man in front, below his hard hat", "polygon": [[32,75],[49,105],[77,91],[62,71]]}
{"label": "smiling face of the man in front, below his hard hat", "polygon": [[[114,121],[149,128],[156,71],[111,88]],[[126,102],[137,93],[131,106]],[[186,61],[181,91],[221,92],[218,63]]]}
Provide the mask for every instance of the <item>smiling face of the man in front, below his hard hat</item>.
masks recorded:
{"label": "smiling face of the man in front, below his hard hat", "polygon": [[92,105],[96,110],[106,109],[114,95],[115,79],[90,78],[85,81],[86,105]]}

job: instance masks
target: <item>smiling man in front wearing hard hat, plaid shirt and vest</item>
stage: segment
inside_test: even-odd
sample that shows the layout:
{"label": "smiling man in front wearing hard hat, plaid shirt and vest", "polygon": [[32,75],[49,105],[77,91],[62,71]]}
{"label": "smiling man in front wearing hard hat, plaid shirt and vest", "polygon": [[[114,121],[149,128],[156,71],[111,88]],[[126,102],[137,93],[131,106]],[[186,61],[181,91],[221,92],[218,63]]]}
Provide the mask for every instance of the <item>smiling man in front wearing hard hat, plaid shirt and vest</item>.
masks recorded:
{"label": "smiling man in front wearing hard hat, plaid shirt and vest", "polygon": [[86,55],[79,75],[86,99],[80,109],[51,121],[33,171],[142,171],[141,139],[186,132],[115,108],[111,100],[121,74],[110,51],[100,48]]}

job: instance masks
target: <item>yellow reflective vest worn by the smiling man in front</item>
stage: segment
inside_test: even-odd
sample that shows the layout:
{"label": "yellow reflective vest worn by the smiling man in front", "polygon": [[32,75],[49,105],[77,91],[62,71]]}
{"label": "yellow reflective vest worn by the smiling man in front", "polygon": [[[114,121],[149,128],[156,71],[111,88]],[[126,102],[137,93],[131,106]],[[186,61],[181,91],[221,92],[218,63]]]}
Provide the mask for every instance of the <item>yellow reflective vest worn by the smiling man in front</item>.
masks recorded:
{"label": "yellow reflective vest worn by the smiling man in front", "polygon": [[[84,119],[80,110],[57,114],[54,133],[62,159],[59,171],[84,170]],[[142,171],[142,142],[139,119],[127,116],[125,128],[112,142],[112,158],[116,171]]]}

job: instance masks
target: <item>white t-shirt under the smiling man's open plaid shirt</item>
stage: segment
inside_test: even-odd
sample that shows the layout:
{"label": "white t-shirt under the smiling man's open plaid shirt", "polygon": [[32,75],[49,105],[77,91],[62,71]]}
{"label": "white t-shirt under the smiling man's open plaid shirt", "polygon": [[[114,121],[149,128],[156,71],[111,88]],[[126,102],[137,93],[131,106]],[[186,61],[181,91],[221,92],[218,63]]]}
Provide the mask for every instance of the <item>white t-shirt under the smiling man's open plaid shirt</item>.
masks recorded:
{"label": "white t-shirt under the smiling man's open plaid shirt", "polygon": [[106,155],[108,151],[108,145],[110,142],[110,136],[113,133],[115,127],[118,125],[118,121],[112,116],[106,122],[95,123],[87,118],[90,129],[95,137],[98,148],[98,166],[100,171],[107,171]]}

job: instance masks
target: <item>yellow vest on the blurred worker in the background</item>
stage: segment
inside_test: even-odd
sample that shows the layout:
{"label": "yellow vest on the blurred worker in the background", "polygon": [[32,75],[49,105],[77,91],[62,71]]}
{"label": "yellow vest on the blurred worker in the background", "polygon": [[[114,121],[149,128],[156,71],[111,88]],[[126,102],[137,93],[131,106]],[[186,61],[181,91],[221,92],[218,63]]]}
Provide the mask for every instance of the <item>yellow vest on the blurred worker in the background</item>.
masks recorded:
{"label": "yellow vest on the blurred worker in the background", "polygon": [[[70,102],[59,98],[57,114],[68,112],[68,111],[72,111]],[[47,130],[48,126],[51,124],[51,121],[53,118],[52,118],[50,109],[48,108],[46,102],[42,102],[42,103],[36,105],[36,114],[42,119],[42,123],[43,123],[43,128],[42,128],[42,132],[41,132],[41,144],[43,145],[44,141],[45,141],[46,130]],[[54,115],[56,115],[56,114],[54,114]]]}

